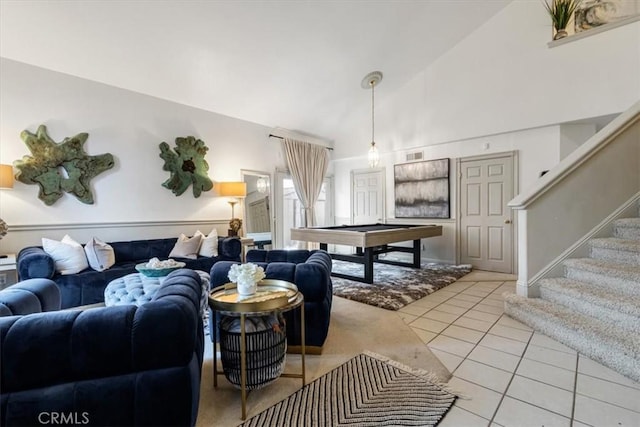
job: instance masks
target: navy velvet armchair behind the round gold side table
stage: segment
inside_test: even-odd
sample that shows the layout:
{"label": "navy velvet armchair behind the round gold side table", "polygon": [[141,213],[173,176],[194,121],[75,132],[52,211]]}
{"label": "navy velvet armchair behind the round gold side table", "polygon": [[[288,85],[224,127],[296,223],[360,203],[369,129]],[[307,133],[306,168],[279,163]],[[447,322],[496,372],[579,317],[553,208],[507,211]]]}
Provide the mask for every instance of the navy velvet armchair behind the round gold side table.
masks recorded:
{"label": "navy velvet armchair behind the round gold side table", "polygon": [[[320,354],[329,332],[333,284],[331,282],[331,256],[322,250],[261,250],[247,252],[247,262],[264,268],[266,279],[286,280],[294,283],[304,295],[305,341],[311,354]],[[229,282],[228,274],[234,262],[218,262],[211,268],[211,287]],[[287,324],[288,351],[300,347],[300,313],[284,313]],[[213,316],[209,316],[212,321]],[[214,325],[211,325],[214,327]],[[213,338],[213,337],[212,337]]]}

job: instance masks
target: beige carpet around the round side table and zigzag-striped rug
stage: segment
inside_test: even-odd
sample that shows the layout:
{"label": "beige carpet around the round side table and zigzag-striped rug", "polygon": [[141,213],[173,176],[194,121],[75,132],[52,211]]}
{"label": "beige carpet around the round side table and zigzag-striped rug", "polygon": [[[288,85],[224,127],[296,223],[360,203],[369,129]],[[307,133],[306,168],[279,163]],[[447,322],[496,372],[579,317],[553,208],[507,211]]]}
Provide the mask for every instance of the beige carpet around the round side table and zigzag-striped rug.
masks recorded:
{"label": "beige carpet around the round side table and zigzag-striped rug", "polygon": [[[240,419],[240,390],[229,384],[224,375],[213,388],[213,353],[205,337],[205,359],[200,388],[197,426],[237,426]],[[310,382],[365,350],[392,360],[434,373],[442,382],[451,374],[398,313],[334,297],[329,336],[322,355],[306,357],[307,382]],[[218,363],[219,359],[218,359]],[[299,372],[300,356],[287,355],[287,372]],[[252,391],[247,398],[247,418],[274,405],[302,386],[297,378],[280,378],[273,384]],[[265,426],[267,427],[267,426]]]}

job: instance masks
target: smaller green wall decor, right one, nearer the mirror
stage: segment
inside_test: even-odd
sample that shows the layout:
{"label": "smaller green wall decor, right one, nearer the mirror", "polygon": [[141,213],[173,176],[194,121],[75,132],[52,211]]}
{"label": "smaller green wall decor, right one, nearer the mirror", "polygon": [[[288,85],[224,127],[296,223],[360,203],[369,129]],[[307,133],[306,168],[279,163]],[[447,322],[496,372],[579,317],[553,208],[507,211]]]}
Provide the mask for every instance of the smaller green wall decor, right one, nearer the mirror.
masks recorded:
{"label": "smaller green wall decor, right one, nearer the mirror", "polygon": [[184,193],[193,184],[193,196],[200,197],[203,191],[213,188],[207,171],[209,164],[204,159],[209,150],[204,142],[193,136],[176,138],[175,153],[169,144],[160,144],[160,157],[164,159],[163,170],[171,172],[171,176],[162,186],[168,188],[176,196]]}

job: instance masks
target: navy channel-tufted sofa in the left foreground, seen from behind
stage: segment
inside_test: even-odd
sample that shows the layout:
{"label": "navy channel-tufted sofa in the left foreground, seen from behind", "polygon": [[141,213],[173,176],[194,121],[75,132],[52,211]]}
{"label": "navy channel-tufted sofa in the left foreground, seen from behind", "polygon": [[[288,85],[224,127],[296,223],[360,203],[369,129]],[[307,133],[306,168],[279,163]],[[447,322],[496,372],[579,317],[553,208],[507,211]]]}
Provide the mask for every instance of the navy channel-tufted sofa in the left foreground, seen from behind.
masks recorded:
{"label": "navy channel-tufted sofa in the left foreground, seen from behind", "polygon": [[200,296],[200,277],[188,269],[172,272],[140,307],[11,315],[59,307],[56,284],[1,291],[0,425],[195,425]]}

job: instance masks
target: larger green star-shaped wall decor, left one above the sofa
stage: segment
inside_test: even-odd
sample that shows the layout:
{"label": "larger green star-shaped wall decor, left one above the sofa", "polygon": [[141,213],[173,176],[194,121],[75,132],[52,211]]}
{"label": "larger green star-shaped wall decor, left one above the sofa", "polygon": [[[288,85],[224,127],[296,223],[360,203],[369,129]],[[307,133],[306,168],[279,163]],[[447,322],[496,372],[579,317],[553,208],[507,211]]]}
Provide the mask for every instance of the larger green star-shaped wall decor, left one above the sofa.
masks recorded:
{"label": "larger green star-shaped wall decor, left one above the sofa", "polygon": [[48,206],[64,192],[73,194],[83,203],[93,204],[91,179],[113,167],[113,155],[89,156],[85,153],[83,146],[88,133],[79,133],[56,143],[47,134],[46,126],[40,125],[35,134],[24,130],[20,137],[33,156],[13,162],[18,169],[15,176],[18,181],[37,184],[40,187],[38,198]]}

